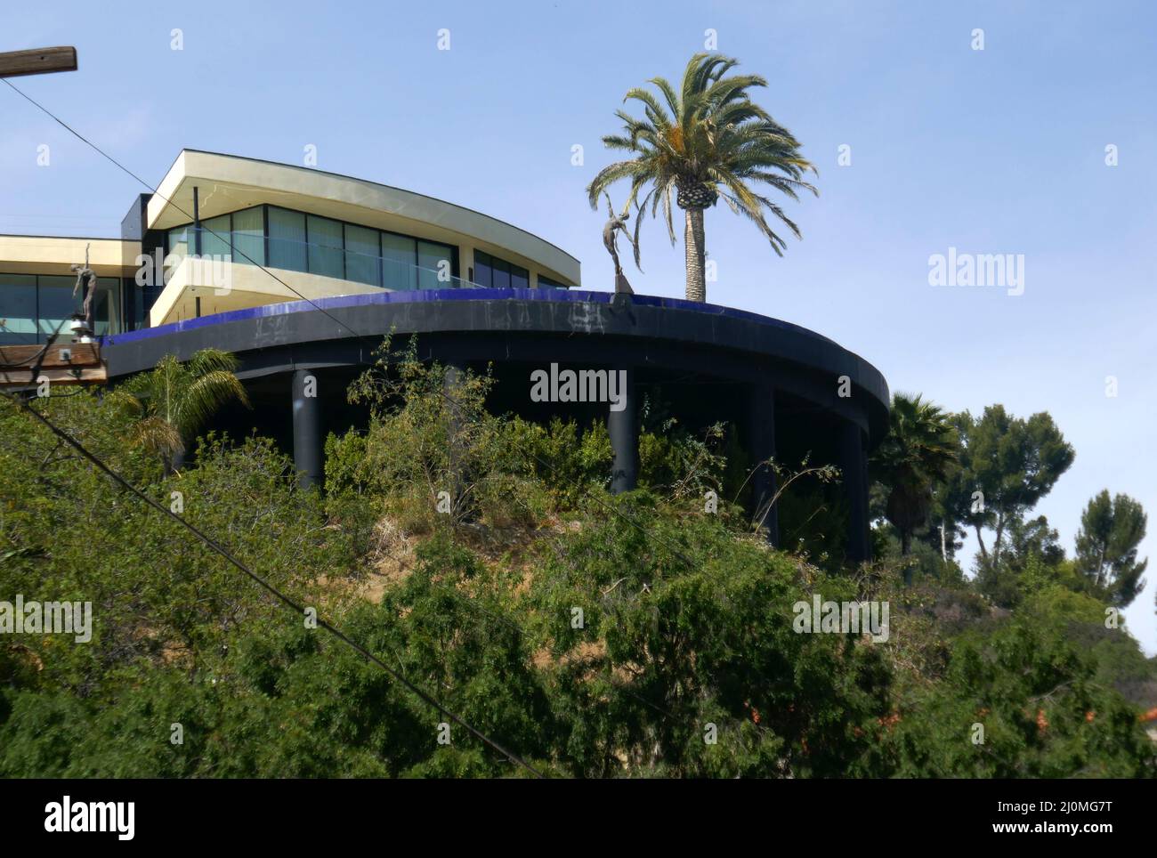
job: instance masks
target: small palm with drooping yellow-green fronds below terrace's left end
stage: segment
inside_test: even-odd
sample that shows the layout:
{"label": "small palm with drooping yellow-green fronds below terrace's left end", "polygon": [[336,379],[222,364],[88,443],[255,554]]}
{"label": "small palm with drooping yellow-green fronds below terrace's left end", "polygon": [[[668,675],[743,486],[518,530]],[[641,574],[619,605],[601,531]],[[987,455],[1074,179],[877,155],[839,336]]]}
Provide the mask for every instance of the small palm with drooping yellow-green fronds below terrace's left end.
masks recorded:
{"label": "small palm with drooping yellow-green fronds below terrace's left end", "polygon": [[109,395],[113,407],[132,415],[130,443],[159,456],[167,474],[184,459],[185,445],[206,420],[231,399],[249,405],[237,376],[237,358],[205,348],[185,363],[165,355]]}

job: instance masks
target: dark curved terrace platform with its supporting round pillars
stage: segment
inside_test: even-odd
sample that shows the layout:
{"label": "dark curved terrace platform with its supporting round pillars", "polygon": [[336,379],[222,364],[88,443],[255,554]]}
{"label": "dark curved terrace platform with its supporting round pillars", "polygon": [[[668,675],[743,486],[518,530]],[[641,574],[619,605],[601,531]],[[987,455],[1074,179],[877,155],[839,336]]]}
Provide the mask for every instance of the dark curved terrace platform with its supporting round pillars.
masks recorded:
{"label": "dark curved terrace platform with its supporting round pillars", "polygon": [[[320,485],[326,434],[366,426],[368,415],[346,392],[388,334],[399,348],[415,338],[422,360],[491,372],[494,413],[606,421],[613,491],[635,486],[644,404],[646,414],[675,417],[693,432],[730,424],[752,464],[833,464],[841,481],[819,497],[841,522],[846,559],[869,556],[867,454],[886,431],[887,385],[835,342],[756,313],[640,295],[429,289],[270,304],[110,335],[104,346],[113,380],[167,354],[234,353],[252,408],[229,406],[209,428],[275,438],[293,452],[303,485]],[[624,370],[624,407],[532,401],[531,373],[551,364]],[[316,395],[305,392],[310,377]],[[742,500],[754,509],[774,488],[774,474],[760,468]],[[769,538],[791,543],[799,523],[786,503],[778,506]]]}

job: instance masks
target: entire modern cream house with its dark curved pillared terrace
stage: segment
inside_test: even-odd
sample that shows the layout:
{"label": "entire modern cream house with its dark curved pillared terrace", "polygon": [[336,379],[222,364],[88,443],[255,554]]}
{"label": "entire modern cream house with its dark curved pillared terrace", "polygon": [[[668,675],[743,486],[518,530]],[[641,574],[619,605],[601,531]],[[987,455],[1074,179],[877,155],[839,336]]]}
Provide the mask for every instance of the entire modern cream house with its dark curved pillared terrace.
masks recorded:
{"label": "entire modern cream house with its dark curved pillared terrace", "polygon": [[[834,463],[846,553],[869,554],[865,461],[886,431],[887,385],[815,332],[712,304],[584,291],[578,260],[478,212],[186,149],[156,193],[133,202],[119,239],[0,236],[0,346],[44,342],[74,312],[71,266],[86,250],[110,378],[165,354],[233,352],[255,407],[223,414],[222,426],[292,444],[307,485],[322,480],[324,432],[358,420],[349,379],[392,332],[417,336],[423,357],[492,367],[501,410],[605,413],[617,490],[635,482],[643,397],[685,426],[734,423],[752,463]],[[624,370],[626,406],[532,402],[531,372],[552,364]],[[762,468],[753,485],[758,503],[774,476]]]}

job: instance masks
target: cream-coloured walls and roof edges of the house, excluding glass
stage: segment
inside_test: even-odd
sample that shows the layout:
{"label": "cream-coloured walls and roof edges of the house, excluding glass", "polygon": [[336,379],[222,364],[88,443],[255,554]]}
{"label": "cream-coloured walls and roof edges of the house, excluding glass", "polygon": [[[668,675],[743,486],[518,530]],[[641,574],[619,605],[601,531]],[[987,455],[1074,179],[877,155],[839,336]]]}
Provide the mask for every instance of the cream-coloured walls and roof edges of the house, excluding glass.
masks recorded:
{"label": "cream-coloured walls and roof edges of the house, excluding glass", "polygon": [[[190,224],[194,213],[194,188],[200,223],[257,206],[277,206],[352,227],[449,245],[457,254],[455,284],[469,284],[479,252],[525,269],[530,288],[537,288],[540,278],[563,286],[581,282],[580,264],[574,257],[525,230],[478,212],[411,191],[305,167],[190,149],[182,150],[148,200],[141,235],[155,239],[167,230]],[[125,289],[140,289],[149,282],[149,276],[155,278],[149,269],[157,259],[163,260],[163,289],[156,294],[162,281],[155,279],[153,282],[159,284],[152,294],[155,299],[147,318],[141,319],[154,327],[198,315],[303,297],[383,290],[382,286],[272,265],[229,265],[228,257],[211,262],[168,254],[163,241],[159,251],[142,241],[0,236],[0,318],[5,316],[5,274],[69,274],[73,264],[83,261],[86,247],[96,273],[124,279]],[[139,297],[141,303],[137,306],[143,305],[143,295],[140,289],[131,296]],[[133,301],[126,303],[134,304]],[[133,319],[119,319],[117,324],[118,330],[133,326]]]}

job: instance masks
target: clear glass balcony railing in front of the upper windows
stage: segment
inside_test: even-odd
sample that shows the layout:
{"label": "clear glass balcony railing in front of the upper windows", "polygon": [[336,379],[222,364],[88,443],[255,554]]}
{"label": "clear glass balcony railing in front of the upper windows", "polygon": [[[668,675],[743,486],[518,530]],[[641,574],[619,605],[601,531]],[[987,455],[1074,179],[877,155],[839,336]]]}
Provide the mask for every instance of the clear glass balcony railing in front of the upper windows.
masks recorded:
{"label": "clear glass balcony railing in front of the upper windows", "polygon": [[[189,254],[196,242],[197,230],[186,232],[187,242],[175,246],[170,253],[180,258]],[[235,265],[261,265],[266,268],[297,271],[305,274],[346,280],[353,283],[415,291],[418,289],[479,289],[463,278],[450,274],[451,260],[430,258],[426,265],[408,259],[360,253],[316,242],[292,238],[265,238],[260,235],[211,232],[201,229],[201,252],[205,258],[231,257]],[[400,253],[399,253],[400,256]],[[413,258],[413,254],[405,253]]]}

